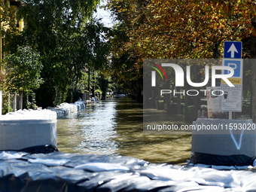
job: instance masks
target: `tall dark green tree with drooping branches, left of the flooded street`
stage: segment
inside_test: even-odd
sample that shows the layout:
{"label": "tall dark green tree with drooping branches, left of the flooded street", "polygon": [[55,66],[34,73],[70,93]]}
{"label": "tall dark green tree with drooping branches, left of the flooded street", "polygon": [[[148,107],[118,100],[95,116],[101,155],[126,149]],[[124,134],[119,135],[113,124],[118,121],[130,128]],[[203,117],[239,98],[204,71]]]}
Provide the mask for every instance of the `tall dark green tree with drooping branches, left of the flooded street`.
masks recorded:
{"label": "tall dark green tree with drooping branches, left of the flooded street", "polygon": [[[24,0],[17,16],[26,25],[17,44],[28,44],[41,55],[44,84],[36,91],[42,107],[66,99],[70,84],[81,77],[90,58],[83,30],[99,0]],[[85,42],[84,42],[85,41]]]}

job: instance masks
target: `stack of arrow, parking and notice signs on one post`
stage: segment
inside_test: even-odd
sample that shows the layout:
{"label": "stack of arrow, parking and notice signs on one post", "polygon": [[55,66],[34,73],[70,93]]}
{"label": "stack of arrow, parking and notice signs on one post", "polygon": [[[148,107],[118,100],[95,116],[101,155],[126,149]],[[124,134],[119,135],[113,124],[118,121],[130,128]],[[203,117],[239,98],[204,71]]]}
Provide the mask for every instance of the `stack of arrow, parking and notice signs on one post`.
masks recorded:
{"label": "stack of arrow, parking and notice signs on one post", "polygon": [[[242,42],[224,41],[224,59],[222,66],[232,67],[234,75],[229,78],[235,87],[229,87],[224,81],[221,82],[221,90],[224,95],[221,97],[221,111],[229,112],[229,119],[232,119],[233,111],[242,111]],[[224,70],[224,74],[228,72]]]}

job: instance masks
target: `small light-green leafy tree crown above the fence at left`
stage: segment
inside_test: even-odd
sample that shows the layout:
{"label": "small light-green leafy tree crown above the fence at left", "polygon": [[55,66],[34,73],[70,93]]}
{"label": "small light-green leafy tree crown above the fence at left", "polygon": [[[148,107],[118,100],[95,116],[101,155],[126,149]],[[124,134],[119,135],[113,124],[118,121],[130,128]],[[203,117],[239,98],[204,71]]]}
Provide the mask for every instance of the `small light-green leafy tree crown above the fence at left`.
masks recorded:
{"label": "small light-green leafy tree crown above the fence at left", "polygon": [[31,47],[19,47],[17,53],[2,60],[6,76],[4,87],[10,92],[32,93],[44,82],[40,55]]}

